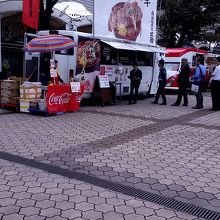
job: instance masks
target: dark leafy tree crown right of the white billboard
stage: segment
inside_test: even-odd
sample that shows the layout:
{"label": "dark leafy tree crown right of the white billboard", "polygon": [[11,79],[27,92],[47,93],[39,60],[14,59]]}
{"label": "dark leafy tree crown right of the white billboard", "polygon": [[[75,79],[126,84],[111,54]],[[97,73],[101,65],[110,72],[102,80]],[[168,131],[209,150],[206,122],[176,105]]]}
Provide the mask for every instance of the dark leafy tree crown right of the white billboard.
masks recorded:
{"label": "dark leafy tree crown right of the white billboard", "polygon": [[168,47],[204,40],[206,30],[219,21],[220,1],[163,0],[161,6],[160,41]]}

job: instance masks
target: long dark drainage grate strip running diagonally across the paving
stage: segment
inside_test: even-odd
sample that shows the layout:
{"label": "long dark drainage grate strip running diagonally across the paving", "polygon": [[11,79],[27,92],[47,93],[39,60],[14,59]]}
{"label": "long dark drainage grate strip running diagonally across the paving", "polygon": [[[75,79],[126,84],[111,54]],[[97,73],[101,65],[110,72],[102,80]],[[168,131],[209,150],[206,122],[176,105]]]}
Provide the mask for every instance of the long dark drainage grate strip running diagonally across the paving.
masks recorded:
{"label": "long dark drainage grate strip running diagonally across the paving", "polygon": [[17,155],[12,155],[5,152],[0,152],[0,158],[3,160],[7,160],[10,162],[15,162],[18,164],[23,164],[29,167],[41,169],[47,171],[49,173],[58,174],[67,178],[76,179],[79,181],[83,181],[85,183],[89,183],[98,187],[102,187],[111,191],[115,191],[118,193],[123,193],[128,196],[133,196],[142,200],[146,200],[149,202],[153,202],[170,209],[174,209],[181,212],[186,212],[188,214],[198,216],[207,220],[220,220],[220,213],[215,212],[209,209],[197,207],[195,205],[187,204],[184,202],[177,201],[172,198],[168,198],[165,196],[156,195],[153,193],[149,193],[143,191],[141,189],[135,189],[129,186],[124,186],[119,183],[114,183],[108,180],[102,180],[97,177],[88,176],[83,173],[77,173],[75,171],[63,169],[60,167],[55,167],[49,164],[44,164],[41,162],[37,162],[31,159],[23,158]]}

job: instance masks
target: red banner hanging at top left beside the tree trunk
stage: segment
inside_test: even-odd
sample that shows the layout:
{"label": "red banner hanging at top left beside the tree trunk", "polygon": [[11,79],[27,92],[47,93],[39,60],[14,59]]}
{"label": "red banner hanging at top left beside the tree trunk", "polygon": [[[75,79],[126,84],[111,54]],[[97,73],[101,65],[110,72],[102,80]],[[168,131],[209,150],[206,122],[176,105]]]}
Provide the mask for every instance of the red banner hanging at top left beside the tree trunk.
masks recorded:
{"label": "red banner hanging at top left beside the tree trunk", "polygon": [[23,0],[22,23],[38,29],[40,0]]}

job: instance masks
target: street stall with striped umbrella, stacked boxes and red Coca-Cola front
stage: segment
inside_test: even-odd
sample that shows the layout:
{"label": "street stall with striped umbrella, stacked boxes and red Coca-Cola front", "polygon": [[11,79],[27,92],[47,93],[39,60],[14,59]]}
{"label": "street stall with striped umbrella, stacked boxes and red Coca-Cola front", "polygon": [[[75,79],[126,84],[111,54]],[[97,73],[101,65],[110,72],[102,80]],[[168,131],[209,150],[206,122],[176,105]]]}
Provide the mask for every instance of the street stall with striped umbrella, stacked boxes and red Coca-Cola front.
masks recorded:
{"label": "street stall with striped umbrella, stacked boxes and red Coca-Cola front", "polygon": [[76,43],[72,39],[61,35],[33,38],[25,45],[24,51],[51,53],[50,72],[47,73],[50,80],[46,86],[42,85],[41,82],[29,82],[27,80],[20,83],[20,87],[15,81],[5,80],[1,83],[1,103],[4,105],[12,103],[13,106],[20,106],[20,112],[44,115],[78,111],[86,84],[80,82],[64,84],[62,79],[59,79],[58,65],[53,59],[54,51],[75,46]]}

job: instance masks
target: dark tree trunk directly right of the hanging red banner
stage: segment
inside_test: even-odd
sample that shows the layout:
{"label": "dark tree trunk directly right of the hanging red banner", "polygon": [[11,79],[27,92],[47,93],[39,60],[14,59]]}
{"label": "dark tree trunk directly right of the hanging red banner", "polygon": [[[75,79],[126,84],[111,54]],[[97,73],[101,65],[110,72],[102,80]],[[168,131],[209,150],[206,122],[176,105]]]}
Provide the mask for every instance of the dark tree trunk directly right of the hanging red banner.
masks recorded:
{"label": "dark tree trunk directly right of the hanging red banner", "polygon": [[51,14],[53,13],[53,6],[58,0],[40,0],[40,24],[39,30],[49,30]]}

